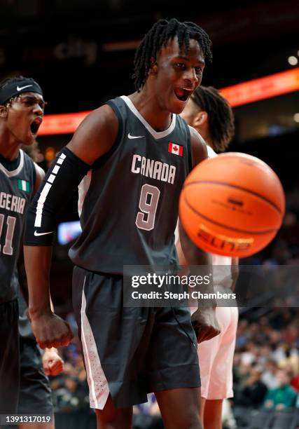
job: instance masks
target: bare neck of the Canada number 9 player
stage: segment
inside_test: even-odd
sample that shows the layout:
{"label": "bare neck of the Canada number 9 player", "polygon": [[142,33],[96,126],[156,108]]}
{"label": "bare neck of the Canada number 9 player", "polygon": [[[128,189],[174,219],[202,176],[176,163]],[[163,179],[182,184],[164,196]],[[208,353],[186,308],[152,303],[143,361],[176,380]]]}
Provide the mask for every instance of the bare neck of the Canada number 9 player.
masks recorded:
{"label": "bare neck of the Canada number 9 player", "polygon": [[162,111],[157,99],[149,95],[148,91],[141,90],[140,93],[128,95],[141,116],[155,131],[164,131],[172,123],[172,114],[169,111]]}

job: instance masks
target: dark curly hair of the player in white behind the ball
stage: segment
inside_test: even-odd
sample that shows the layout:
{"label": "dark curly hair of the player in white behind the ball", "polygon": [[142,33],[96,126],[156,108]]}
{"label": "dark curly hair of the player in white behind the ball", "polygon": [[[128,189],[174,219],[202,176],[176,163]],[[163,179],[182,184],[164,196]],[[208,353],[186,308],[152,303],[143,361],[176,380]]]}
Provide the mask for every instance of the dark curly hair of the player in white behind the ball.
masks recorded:
{"label": "dark curly hair of the player in white behind the ball", "polygon": [[209,115],[209,133],[213,149],[223,152],[235,134],[234,116],[228,101],[213,86],[198,86],[191,100]]}

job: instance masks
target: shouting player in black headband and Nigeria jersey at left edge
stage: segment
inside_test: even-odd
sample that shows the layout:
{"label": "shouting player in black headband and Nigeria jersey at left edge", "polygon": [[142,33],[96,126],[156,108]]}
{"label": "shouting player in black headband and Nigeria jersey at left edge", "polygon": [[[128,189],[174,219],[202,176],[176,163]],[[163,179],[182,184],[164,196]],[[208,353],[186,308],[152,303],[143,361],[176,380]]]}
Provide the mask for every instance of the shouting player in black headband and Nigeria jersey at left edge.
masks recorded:
{"label": "shouting player in black headband and Nigeria jersey at left edge", "polygon": [[41,87],[33,79],[0,83],[0,414],[15,413],[18,407],[17,261],[25,210],[42,178],[20,145],[34,141],[43,107]]}

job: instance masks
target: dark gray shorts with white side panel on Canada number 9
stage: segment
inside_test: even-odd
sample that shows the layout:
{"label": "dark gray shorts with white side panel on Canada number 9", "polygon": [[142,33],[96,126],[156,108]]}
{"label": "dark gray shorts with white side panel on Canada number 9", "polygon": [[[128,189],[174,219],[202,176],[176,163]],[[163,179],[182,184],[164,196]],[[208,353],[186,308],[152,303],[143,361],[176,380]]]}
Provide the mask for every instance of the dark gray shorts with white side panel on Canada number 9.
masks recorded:
{"label": "dark gray shorts with white side panel on Canada number 9", "polygon": [[90,407],[147,401],[147,393],[200,387],[188,308],[123,306],[123,276],[76,266],[73,304],[83,347]]}

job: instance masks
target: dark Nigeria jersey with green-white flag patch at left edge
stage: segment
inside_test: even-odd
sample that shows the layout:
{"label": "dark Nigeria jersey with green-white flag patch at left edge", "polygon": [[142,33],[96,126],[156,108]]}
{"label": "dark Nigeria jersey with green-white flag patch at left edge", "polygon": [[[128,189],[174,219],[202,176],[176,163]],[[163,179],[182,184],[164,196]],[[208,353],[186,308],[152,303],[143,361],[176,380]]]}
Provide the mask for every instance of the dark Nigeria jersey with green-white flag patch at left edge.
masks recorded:
{"label": "dark Nigeria jersey with green-white flag patch at left edge", "polygon": [[15,170],[0,162],[0,303],[18,297],[17,262],[35,177],[34,163],[22,150]]}

